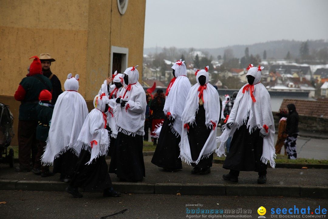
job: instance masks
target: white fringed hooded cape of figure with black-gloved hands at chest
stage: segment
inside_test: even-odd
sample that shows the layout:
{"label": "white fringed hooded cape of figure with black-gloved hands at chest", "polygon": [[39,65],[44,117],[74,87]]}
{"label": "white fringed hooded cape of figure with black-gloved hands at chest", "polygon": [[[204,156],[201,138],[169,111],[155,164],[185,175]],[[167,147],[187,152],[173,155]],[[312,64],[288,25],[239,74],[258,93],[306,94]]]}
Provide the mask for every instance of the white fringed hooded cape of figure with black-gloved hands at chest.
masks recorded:
{"label": "white fringed hooded cape of figure with black-gloved hands at chest", "polygon": [[119,97],[121,97],[121,101],[128,102],[124,108],[121,107],[121,104],[116,103],[114,117],[118,132],[125,135],[143,136],[145,135],[144,123],[147,101],[146,93],[138,82],[139,72],[136,67],[127,68],[124,72],[129,76],[129,84],[121,90]]}

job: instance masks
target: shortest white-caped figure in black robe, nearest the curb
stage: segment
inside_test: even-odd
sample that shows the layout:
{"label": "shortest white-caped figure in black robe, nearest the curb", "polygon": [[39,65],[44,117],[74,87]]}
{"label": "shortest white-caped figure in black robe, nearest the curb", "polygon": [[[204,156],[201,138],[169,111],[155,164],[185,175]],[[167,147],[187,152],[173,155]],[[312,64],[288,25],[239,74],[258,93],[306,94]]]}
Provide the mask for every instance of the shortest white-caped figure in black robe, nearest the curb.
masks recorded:
{"label": "shortest white-caped figure in black robe, nearest the curb", "polygon": [[72,146],[79,155],[75,174],[66,191],[73,197],[80,198],[82,194],[77,188],[88,190],[103,190],[104,196],[120,195],[113,190],[111,177],[108,173],[108,165],[105,160],[109,146],[109,133],[107,116],[109,99],[105,93],[95,96],[94,109],[85,119],[77,142]]}

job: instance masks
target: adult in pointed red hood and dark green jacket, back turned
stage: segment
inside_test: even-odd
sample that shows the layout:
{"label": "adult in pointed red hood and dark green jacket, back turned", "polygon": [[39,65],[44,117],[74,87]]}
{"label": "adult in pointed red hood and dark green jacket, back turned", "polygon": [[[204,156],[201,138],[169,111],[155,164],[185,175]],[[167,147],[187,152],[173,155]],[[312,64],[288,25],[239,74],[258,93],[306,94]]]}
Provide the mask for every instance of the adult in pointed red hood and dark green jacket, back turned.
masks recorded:
{"label": "adult in pointed red hood and dark green jacket, back turned", "polygon": [[15,92],[15,99],[21,101],[18,117],[18,160],[19,166],[16,171],[31,171],[37,153],[38,140],[36,139],[36,126],[38,125],[36,106],[39,103],[39,94],[46,89],[51,92],[52,85],[49,78],[42,75],[41,61],[39,57],[33,56],[30,72],[19,83]]}

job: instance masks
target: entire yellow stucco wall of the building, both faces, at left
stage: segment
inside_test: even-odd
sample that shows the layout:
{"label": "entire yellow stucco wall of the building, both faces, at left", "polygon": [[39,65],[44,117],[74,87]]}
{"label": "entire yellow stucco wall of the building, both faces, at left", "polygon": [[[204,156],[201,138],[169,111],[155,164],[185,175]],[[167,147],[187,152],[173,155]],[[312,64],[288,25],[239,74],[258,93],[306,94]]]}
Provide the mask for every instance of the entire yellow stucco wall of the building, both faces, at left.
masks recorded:
{"label": "entire yellow stucco wall of the building, both faces, at left", "polygon": [[19,102],[13,95],[31,56],[50,53],[56,59],[51,71],[63,90],[67,74],[79,74],[79,93],[87,102],[111,75],[111,46],[129,49],[128,67],[140,66],[140,81],[145,7],[146,0],[130,0],[121,15],[117,0],[1,0],[0,102],[10,105],[16,133]]}

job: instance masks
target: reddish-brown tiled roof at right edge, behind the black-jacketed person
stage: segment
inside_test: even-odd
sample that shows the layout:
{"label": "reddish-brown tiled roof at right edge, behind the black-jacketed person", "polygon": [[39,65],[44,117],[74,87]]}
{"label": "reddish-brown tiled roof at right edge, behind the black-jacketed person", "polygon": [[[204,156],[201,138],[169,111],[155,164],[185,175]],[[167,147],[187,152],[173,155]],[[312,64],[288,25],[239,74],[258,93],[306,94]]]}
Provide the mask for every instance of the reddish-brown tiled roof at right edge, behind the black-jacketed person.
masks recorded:
{"label": "reddish-brown tiled roof at right edge, behind the black-jacketed person", "polygon": [[283,99],[280,110],[287,109],[287,105],[293,103],[299,115],[328,118],[328,101]]}

